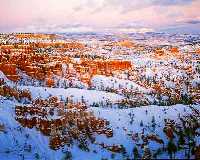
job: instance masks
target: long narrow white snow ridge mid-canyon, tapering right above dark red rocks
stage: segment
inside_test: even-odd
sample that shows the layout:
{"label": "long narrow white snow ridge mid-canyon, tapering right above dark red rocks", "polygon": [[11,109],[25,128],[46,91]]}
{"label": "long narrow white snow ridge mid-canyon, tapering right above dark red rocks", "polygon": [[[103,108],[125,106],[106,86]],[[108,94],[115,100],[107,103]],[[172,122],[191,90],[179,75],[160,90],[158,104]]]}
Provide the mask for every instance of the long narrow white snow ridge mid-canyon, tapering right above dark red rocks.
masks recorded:
{"label": "long narrow white snow ridge mid-canyon, tapering right above dark red rocks", "polygon": [[47,87],[33,87],[33,86],[20,86],[20,89],[30,90],[32,97],[38,98],[48,98],[50,95],[58,96],[61,99],[71,98],[74,102],[81,102],[84,99],[84,102],[87,105],[92,105],[93,103],[101,103],[109,101],[112,103],[117,103],[123,96],[117,95],[115,93],[108,93],[104,91],[96,90],[86,90],[78,88],[47,88]]}

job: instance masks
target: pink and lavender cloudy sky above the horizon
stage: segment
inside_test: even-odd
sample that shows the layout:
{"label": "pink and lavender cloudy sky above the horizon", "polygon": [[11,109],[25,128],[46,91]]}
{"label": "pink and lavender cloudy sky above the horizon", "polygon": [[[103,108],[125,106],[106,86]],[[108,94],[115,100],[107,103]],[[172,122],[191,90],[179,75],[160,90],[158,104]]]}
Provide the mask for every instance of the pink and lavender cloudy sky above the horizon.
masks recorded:
{"label": "pink and lavender cloudy sky above the horizon", "polygon": [[200,0],[0,0],[0,32],[200,33]]}

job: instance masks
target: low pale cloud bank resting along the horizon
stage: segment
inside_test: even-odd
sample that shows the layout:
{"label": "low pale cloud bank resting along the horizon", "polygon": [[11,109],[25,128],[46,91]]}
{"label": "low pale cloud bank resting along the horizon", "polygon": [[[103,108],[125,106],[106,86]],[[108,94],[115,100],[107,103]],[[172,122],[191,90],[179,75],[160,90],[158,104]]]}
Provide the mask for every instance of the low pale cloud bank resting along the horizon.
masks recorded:
{"label": "low pale cloud bank resting along the horizon", "polygon": [[[0,28],[1,29],[1,28]],[[8,33],[12,32],[31,32],[31,33],[87,33],[87,32],[104,32],[104,33],[145,33],[153,32],[152,28],[142,27],[142,26],[117,26],[117,27],[107,27],[107,28],[96,28],[91,25],[82,25],[79,23],[74,24],[41,24],[41,25],[28,25],[18,28],[9,28]],[[6,31],[5,31],[6,32]]]}

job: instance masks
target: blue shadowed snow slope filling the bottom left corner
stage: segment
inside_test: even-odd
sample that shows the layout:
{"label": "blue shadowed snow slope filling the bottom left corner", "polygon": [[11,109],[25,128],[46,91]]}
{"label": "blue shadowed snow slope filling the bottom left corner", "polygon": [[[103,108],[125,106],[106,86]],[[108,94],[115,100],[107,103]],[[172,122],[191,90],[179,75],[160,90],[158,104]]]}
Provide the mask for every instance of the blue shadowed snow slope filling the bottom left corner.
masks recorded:
{"label": "blue shadowed snow slope filling the bottom left corner", "polygon": [[[5,133],[0,132],[0,159],[22,159],[22,155],[25,159],[35,159],[34,153],[38,153],[42,159],[60,159],[59,154],[56,157],[55,151],[48,147],[47,137],[38,133],[36,129],[23,128],[16,122],[15,105],[15,102],[0,97],[0,123],[5,125]],[[27,144],[31,144],[31,152],[25,151]]]}

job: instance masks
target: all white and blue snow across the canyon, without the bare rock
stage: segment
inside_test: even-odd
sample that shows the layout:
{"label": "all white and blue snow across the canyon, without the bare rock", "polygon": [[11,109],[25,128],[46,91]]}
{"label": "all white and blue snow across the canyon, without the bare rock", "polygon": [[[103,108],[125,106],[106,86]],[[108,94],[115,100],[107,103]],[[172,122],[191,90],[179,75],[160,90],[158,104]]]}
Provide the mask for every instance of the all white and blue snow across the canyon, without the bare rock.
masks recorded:
{"label": "all white and blue snow across the canyon, without the bare rock", "polygon": [[[8,98],[9,95],[6,97],[0,96],[0,160],[60,160],[64,159],[64,151],[66,150],[72,153],[72,159],[74,160],[99,160],[103,158],[116,160],[128,159],[127,157],[124,157],[124,155],[121,153],[115,153],[115,157],[112,158],[111,156],[114,153],[102,148],[99,145],[101,143],[104,143],[106,145],[123,145],[127,151],[126,154],[131,159],[133,158],[133,148],[136,145],[140,147],[140,145],[143,143],[143,140],[141,139],[142,135],[146,136],[149,134],[154,134],[164,140],[164,145],[166,146],[168,143],[168,139],[163,132],[165,120],[172,119],[175,120],[177,123],[180,122],[180,117],[183,117],[185,114],[192,112],[191,106],[200,111],[200,105],[148,105],[136,108],[132,108],[134,106],[131,106],[131,108],[117,108],[118,105],[116,105],[116,103],[118,103],[122,99],[128,98],[131,100],[131,102],[138,102],[148,99],[151,104],[155,104],[155,102],[157,103],[157,101],[161,101],[160,96],[162,100],[164,100],[164,102],[167,102],[170,99],[170,101],[175,101],[175,103],[178,103],[176,102],[176,100],[173,100],[173,96],[170,97],[168,95],[169,88],[171,91],[173,91],[173,93],[179,94],[180,90],[181,94],[191,94],[192,96],[195,95],[196,99],[198,99],[200,74],[197,73],[198,71],[196,68],[196,60],[194,60],[194,58],[197,57],[193,55],[194,53],[184,53],[188,51],[193,52],[197,46],[193,46],[193,48],[191,48],[190,45],[187,46],[185,43],[183,43],[184,39],[181,40],[179,39],[180,37],[178,38],[176,35],[168,35],[171,38],[165,35],[166,38],[164,36],[163,39],[162,36],[160,38],[157,36],[153,36],[151,38],[152,35],[149,37],[141,35],[141,37],[139,36],[139,38],[141,38],[141,40],[139,41],[135,39],[137,38],[137,36],[133,35],[132,38],[135,39],[136,44],[138,46],[143,46],[145,51],[138,51],[137,48],[139,49],[139,47],[137,46],[133,49],[127,49],[124,47],[113,47],[111,50],[108,47],[108,50],[106,50],[106,48],[103,49],[104,46],[112,42],[112,40],[117,40],[118,38],[113,37],[113,39],[111,40],[110,36],[99,37],[101,40],[103,40],[102,42],[100,42],[100,39],[96,37],[97,35],[94,36],[95,37],[91,39],[90,36],[87,37],[87,35],[80,35],[80,37],[82,37],[81,43],[86,44],[87,47],[86,50],[83,51],[83,56],[85,58],[91,57],[91,59],[88,58],[91,61],[128,60],[132,63],[133,67],[131,69],[127,69],[126,71],[112,71],[112,76],[110,77],[105,75],[92,75],[93,77],[90,87],[90,85],[81,82],[80,77],[82,77],[83,75],[81,75],[81,73],[77,72],[75,69],[76,64],[81,63],[81,58],[72,58],[74,57],[74,52],[70,51],[66,52],[65,54],[69,55],[72,62],[62,62],[62,76],[53,74],[51,77],[55,81],[55,88],[44,87],[46,86],[45,81],[34,79],[33,77],[28,76],[25,72],[19,69],[17,69],[17,73],[21,77],[21,80],[18,81],[18,83],[10,81],[1,71],[0,79],[4,79],[6,84],[10,87],[17,87],[18,89],[22,90],[28,89],[32,95],[33,100],[36,98],[48,99],[50,96],[57,96],[60,100],[63,101],[69,98],[73,100],[74,103],[85,102],[86,106],[88,107],[86,109],[87,111],[92,111],[96,117],[109,121],[109,125],[107,127],[113,130],[113,137],[108,138],[105,135],[95,134],[95,143],[92,144],[90,141],[88,141],[88,147],[90,149],[89,152],[81,150],[78,146],[77,140],[74,140],[72,146],[70,147],[65,145],[56,151],[52,150],[49,146],[50,137],[43,135],[39,129],[36,129],[39,126],[39,123],[36,124],[37,127],[33,127],[31,129],[22,126],[22,124],[17,121],[17,117],[15,114],[16,105],[26,107],[23,103],[29,103],[29,101],[25,102],[22,100],[18,102],[14,99],[14,97]],[[13,37],[15,36],[13,35]],[[75,39],[78,38],[76,36],[73,37]],[[68,38],[69,41],[71,41],[72,37]],[[50,42],[50,40],[48,39],[36,38],[25,38],[22,39],[22,41],[24,43]],[[5,42],[5,44],[7,42],[14,44],[17,43],[18,40],[12,40],[12,38],[9,38],[8,41],[2,40],[2,42]],[[62,43],[65,42],[65,40],[54,40],[54,43],[56,42]],[[181,43],[183,43],[183,45],[178,46]],[[184,54],[183,59],[173,56],[173,54],[168,51],[169,46],[165,46],[163,48],[162,46],[160,46],[165,51],[166,56],[163,56],[163,58],[161,58],[162,56],[160,58],[159,56],[154,56],[154,49],[157,48],[159,45],[164,44],[169,44],[172,46],[177,45],[181,53]],[[199,46],[197,48],[199,48]],[[49,51],[48,53],[53,54],[54,56],[59,55],[56,50],[55,52],[53,50],[54,49],[52,48],[52,51]],[[41,51],[45,51],[45,49],[43,48],[41,49]],[[190,54],[192,56],[192,59],[190,58]],[[100,57],[100,59],[96,59],[96,56]],[[159,59],[157,59],[156,57]],[[51,58],[49,60],[49,63],[46,63],[47,66],[54,66],[58,62],[51,60]],[[190,67],[192,67],[193,69],[192,73],[190,73]],[[67,72],[67,70],[69,70],[69,72]],[[133,74],[129,74],[129,71],[130,73],[133,72]],[[132,75],[132,78],[129,75]],[[133,81],[131,81],[130,78]],[[142,83],[147,88],[143,87]],[[158,84],[159,87],[161,86],[161,92],[163,92],[161,94],[156,92],[150,94],[150,92],[152,91],[152,84]],[[165,88],[167,88],[167,90],[165,90]],[[125,92],[124,96],[122,96],[124,90],[127,92]],[[165,93],[165,91],[167,92]],[[127,95],[129,93],[131,96]],[[158,102],[158,104],[161,104],[161,102]],[[194,104],[197,103],[195,102]],[[47,107],[45,110],[47,112],[50,112],[50,110],[52,109],[48,108],[48,105],[45,107]],[[66,108],[64,109],[64,111],[68,111],[68,109]],[[61,110],[59,109],[55,108],[54,111],[61,112]],[[76,109],[73,108],[72,110]],[[80,112],[83,111],[81,110]],[[38,116],[40,118],[40,115],[34,116]],[[24,117],[21,117],[25,119],[32,118],[32,113],[27,113]],[[46,117],[42,117],[42,119],[43,118],[51,121],[58,120],[59,118],[63,117],[61,114],[51,114],[47,115]],[[77,120],[77,118],[75,118],[75,120]],[[152,121],[154,120],[155,126],[152,125]],[[2,126],[5,126],[5,128],[2,129]],[[66,129],[65,126],[62,127],[63,130]],[[70,125],[67,127],[70,127]],[[62,131],[60,130],[60,132]],[[133,135],[136,133],[139,134],[138,141],[134,140],[133,138]],[[175,137],[173,140],[176,142],[177,138],[178,137]],[[200,138],[198,136],[195,137],[195,142],[197,145],[200,144]],[[31,148],[29,148],[30,146]],[[162,144],[151,141],[148,144],[148,147],[151,149],[151,151],[155,151],[161,148]],[[143,149],[141,149],[141,147],[139,148],[139,152],[141,155],[143,154]],[[167,151],[163,152],[158,156],[158,158],[169,159],[169,154],[167,154]],[[176,158],[185,159],[184,150],[178,151],[176,153]]]}

